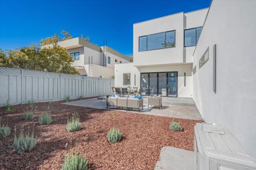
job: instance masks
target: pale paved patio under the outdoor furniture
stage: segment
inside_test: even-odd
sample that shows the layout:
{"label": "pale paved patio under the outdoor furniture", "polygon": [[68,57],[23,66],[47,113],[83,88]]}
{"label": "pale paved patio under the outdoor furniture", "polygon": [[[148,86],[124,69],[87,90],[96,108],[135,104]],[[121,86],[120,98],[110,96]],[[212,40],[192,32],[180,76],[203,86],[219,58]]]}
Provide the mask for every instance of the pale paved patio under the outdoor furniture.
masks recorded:
{"label": "pale paved patio under the outdoor furniture", "polygon": [[[99,109],[106,109],[106,100],[98,100],[97,98],[86,99],[86,100],[77,100],[66,105],[73,106],[83,106],[83,107],[92,107]],[[125,109],[119,109],[125,112],[135,112],[140,114],[147,115],[156,115],[156,116],[165,116],[165,117],[175,117],[175,118],[186,118],[189,120],[203,120],[199,114],[194,100],[191,98],[172,98],[172,97],[163,97],[163,107],[158,109],[158,107],[148,108],[148,98],[143,97],[143,110],[138,112],[138,109],[130,109],[126,111]],[[115,108],[109,108],[110,110]]]}

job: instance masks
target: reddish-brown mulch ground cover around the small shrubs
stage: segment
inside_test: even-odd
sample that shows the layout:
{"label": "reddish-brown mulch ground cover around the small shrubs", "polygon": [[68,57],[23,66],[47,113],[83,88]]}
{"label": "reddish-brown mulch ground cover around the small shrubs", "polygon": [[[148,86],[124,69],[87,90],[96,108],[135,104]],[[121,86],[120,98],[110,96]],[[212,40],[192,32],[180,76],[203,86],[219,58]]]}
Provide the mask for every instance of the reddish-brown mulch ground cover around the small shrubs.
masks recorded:
{"label": "reddish-brown mulch ground cover around the small shrubs", "polygon": [[[22,113],[27,105],[16,105],[14,111],[0,108],[2,123],[8,123],[11,135],[0,140],[0,169],[61,169],[65,154],[77,150],[89,159],[89,169],[154,169],[164,146],[193,150],[194,125],[197,122],[175,118],[183,131],[169,130],[170,117],[150,116],[122,111],[107,111],[61,104],[50,104],[52,124],[39,125],[38,116],[44,113],[49,103],[36,103],[33,120],[23,121]],[[78,113],[83,128],[67,132],[67,114]],[[13,149],[14,127],[17,133],[21,126],[34,129],[36,148],[18,155]],[[108,142],[110,128],[119,128],[123,139],[118,143]],[[70,145],[70,143],[72,143]]]}

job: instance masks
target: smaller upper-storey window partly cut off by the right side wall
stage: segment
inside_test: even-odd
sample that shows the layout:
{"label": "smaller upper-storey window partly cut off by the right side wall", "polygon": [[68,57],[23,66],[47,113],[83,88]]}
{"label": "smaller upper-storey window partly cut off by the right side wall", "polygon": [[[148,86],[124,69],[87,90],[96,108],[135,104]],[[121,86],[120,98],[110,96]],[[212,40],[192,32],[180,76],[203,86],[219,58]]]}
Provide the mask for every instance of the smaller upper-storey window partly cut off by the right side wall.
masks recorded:
{"label": "smaller upper-storey window partly cut off by the right side wall", "polygon": [[184,47],[196,46],[202,27],[184,30]]}

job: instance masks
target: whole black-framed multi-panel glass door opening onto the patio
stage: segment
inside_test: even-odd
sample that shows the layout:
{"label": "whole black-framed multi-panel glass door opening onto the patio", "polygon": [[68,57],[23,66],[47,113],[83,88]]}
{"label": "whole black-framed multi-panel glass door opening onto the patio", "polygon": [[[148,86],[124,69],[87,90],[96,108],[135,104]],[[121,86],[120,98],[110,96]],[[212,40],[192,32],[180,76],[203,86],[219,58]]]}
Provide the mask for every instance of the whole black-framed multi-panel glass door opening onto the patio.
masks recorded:
{"label": "whole black-framed multi-panel glass door opening onto the patio", "polygon": [[141,73],[141,95],[178,96],[178,72]]}

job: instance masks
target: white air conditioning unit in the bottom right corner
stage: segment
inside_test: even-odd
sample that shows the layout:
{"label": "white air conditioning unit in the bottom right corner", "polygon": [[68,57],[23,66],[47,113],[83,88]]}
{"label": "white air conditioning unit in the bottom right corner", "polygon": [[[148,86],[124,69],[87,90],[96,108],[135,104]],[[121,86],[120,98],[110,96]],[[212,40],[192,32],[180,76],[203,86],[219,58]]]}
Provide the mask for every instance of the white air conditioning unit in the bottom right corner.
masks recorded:
{"label": "white air conditioning unit in the bottom right corner", "polygon": [[256,159],[233,134],[218,124],[195,125],[194,152],[196,170],[256,169]]}

